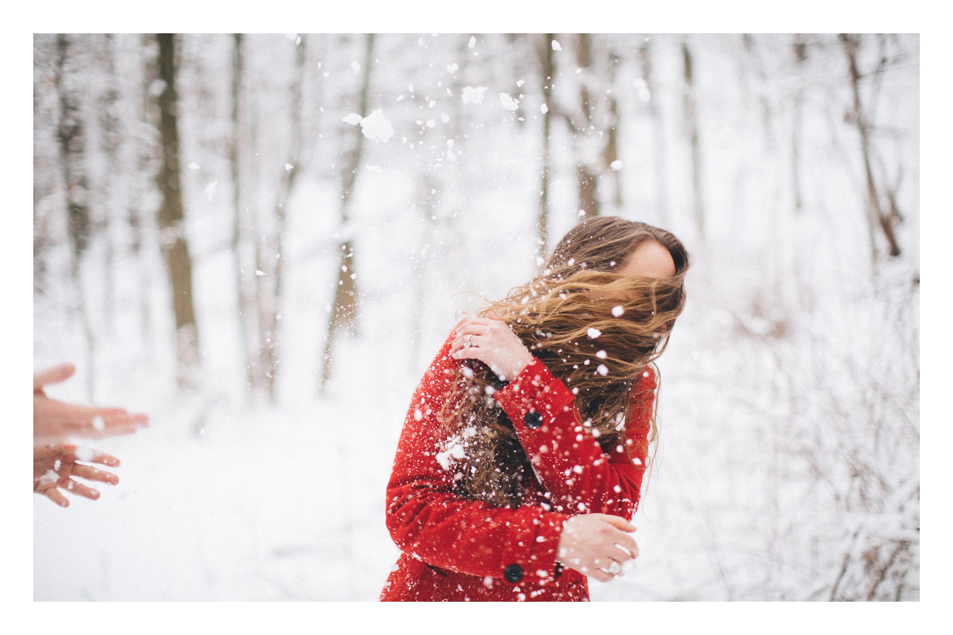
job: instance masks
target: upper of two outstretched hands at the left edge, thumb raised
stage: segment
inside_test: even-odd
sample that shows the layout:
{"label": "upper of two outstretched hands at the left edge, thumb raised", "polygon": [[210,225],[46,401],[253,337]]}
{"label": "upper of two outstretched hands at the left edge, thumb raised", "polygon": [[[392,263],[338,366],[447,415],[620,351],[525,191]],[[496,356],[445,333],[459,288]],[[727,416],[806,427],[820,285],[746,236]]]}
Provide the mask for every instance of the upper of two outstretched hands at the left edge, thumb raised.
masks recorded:
{"label": "upper of two outstretched hands at the left edge, thumb raised", "polygon": [[141,413],[130,414],[125,408],[100,408],[50,399],[44,386],[70,379],[76,372],[72,364],[60,364],[33,375],[33,440],[63,440],[78,436],[98,439],[127,435],[149,423]]}

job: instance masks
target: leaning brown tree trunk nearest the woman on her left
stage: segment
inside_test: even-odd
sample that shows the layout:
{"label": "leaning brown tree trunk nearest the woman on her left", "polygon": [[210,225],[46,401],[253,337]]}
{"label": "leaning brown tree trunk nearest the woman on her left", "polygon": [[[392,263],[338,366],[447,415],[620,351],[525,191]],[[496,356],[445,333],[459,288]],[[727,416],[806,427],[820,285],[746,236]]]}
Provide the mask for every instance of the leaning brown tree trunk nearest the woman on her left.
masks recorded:
{"label": "leaning brown tree trunk nearest the woman on her left", "polygon": [[[371,86],[371,69],[374,66],[374,33],[368,33],[364,55],[364,75],[361,80],[358,113],[361,117],[367,116],[368,92]],[[324,393],[328,380],[331,379],[331,359],[334,351],[335,335],[342,329],[349,333],[357,332],[357,285],[355,278],[355,250],[354,243],[347,229],[351,220],[351,201],[354,194],[357,170],[360,168],[361,153],[364,148],[364,134],[360,126],[354,127],[355,146],[347,155],[344,162],[344,171],[341,174],[341,225],[345,228],[338,253],[340,259],[337,267],[337,281],[335,282],[335,303],[328,318],[327,337],[324,344],[324,355],[321,359],[321,393]]]}

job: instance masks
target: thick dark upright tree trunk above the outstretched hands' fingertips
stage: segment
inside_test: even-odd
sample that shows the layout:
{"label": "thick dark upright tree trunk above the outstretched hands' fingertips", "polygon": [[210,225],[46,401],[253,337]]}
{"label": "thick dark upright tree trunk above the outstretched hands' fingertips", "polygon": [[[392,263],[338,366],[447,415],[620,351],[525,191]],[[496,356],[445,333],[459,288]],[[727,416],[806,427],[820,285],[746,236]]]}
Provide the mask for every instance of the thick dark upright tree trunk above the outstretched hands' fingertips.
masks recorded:
{"label": "thick dark upright tree trunk above the outstretched hands' fingertips", "polygon": [[159,79],[164,88],[159,95],[159,133],[162,138],[162,168],[158,187],[162,193],[158,221],[162,253],[169,269],[172,310],[175,314],[177,379],[180,386],[193,385],[199,365],[198,328],[192,293],[192,257],[185,235],[182,181],[179,166],[179,137],[175,92],[175,35],[158,33]]}

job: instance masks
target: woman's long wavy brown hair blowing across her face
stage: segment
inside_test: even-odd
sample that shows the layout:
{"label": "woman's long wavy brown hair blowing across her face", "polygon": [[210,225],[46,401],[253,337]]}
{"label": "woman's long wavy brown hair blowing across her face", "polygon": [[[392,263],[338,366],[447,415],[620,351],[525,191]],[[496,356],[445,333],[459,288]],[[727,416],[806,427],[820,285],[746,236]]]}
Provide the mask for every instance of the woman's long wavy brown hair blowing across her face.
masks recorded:
{"label": "woman's long wavy brown hair blowing across her face", "polygon": [[[665,247],[675,276],[622,276],[647,240]],[[559,241],[537,276],[477,312],[504,320],[530,352],[576,396],[579,423],[605,448],[621,443],[639,375],[661,355],[685,303],[688,253],[671,233],[614,216],[580,222]],[[658,369],[656,369],[658,372]],[[513,422],[493,393],[504,384],[483,362],[465,360],[445,400],[445,458],[470,498],[518,506],[532,467]],[[648,442],[656,437],[651,419]],[[448,459],[445,459],[448,460]],[[642,466],[644,469],[644,465]]]}

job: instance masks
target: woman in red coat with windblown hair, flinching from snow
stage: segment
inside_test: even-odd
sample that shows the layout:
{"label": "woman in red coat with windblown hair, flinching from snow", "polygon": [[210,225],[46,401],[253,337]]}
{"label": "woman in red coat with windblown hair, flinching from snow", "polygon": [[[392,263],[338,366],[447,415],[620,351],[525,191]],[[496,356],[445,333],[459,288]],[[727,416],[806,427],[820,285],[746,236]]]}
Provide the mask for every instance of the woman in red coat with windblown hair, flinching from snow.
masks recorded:
{"label": "woman in red coat with windblown hair, flinching from snow", "polygon": [[688,255],[596,217],[527,286],[460,322],[412,399],[387,487],[384,601],[589,599],[638,547],[656,371]]}

